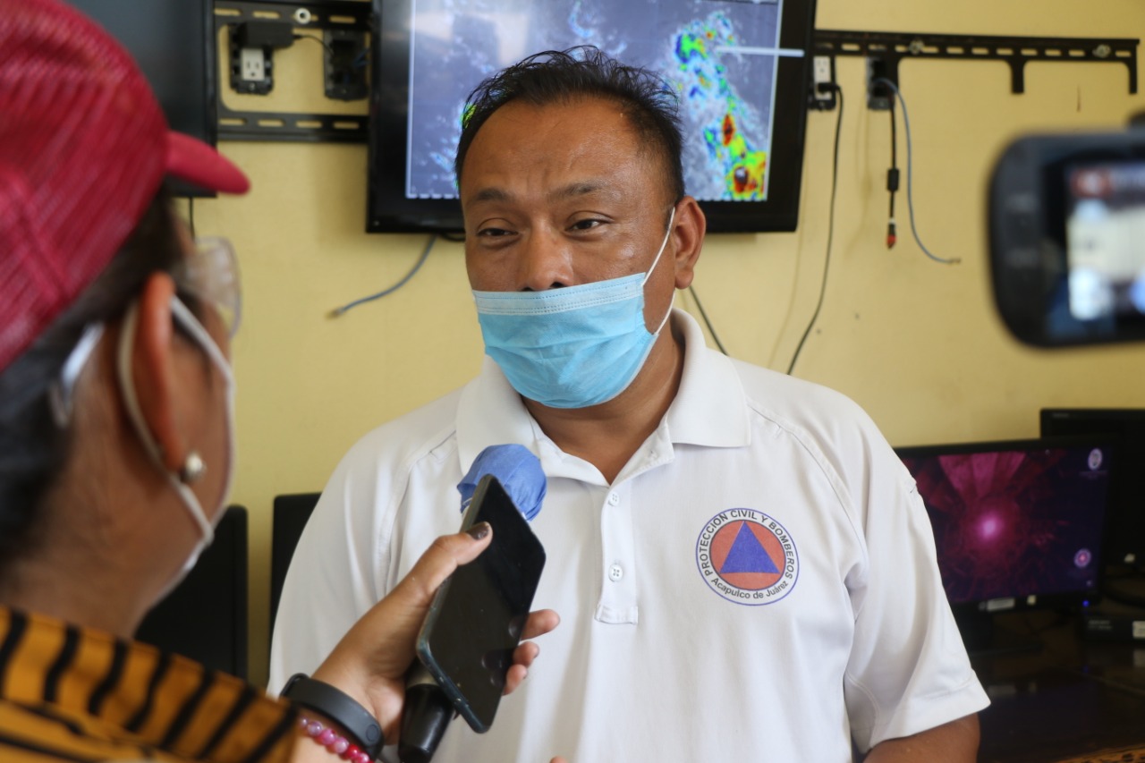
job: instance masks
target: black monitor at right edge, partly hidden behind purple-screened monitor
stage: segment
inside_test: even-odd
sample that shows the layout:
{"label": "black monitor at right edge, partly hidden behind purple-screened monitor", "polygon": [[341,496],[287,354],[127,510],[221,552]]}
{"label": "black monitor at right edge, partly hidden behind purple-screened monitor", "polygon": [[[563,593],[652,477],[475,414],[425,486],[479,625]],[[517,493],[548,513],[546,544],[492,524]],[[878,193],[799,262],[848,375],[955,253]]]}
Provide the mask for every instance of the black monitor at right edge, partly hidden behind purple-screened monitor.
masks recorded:
{"label": "black monitor at right edge, partly hidden behind purple-screened monitor", "polygon": [[1145,564],[1145,409],[1043,408],[1042,435],[1107,432],[1121,438],[1126,469],[1114,474],[1107,564]]}

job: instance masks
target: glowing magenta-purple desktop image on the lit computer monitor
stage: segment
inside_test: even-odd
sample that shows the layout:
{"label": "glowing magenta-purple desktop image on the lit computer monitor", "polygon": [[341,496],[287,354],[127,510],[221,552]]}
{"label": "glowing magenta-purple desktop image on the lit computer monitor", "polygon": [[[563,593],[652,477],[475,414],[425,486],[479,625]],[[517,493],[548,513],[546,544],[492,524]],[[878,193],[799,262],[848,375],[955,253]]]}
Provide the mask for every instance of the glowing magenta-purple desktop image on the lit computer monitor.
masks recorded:
{"label": "glowing magenta-purple desktop image on the lit computer monitor", "polygon": [[1098,446],[899,450],[951,604],[1096,591],[1110,487]]}

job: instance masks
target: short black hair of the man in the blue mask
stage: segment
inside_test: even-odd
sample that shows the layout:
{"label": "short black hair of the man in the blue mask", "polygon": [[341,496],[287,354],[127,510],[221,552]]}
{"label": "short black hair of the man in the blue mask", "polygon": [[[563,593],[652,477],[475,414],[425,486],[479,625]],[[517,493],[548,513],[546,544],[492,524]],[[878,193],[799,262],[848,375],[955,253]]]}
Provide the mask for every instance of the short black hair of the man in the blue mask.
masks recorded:
{"label": "short black hair of the man in the blue mask", "polygon": [[531,55],[477,85],[466,99],[461,118],[453,162],[458,183],[473,139],[497,109],[511,101],[546,105],[581,97],[606,99],[624,108],[640,144],[653,147],[663,157],[672,200],[680,200],[682,137],[674,89],[656,72],[625,65],[591,45]]}

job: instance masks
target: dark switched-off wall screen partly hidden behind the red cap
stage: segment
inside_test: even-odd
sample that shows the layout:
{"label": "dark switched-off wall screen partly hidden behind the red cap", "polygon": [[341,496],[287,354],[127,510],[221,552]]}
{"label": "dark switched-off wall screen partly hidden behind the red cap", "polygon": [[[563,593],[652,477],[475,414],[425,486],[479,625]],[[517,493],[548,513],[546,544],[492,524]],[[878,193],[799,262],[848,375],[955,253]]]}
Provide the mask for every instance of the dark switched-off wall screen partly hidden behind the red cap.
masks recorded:
{"label": "dark switched-off wall screen partly hidden behind the red cap", "polygon": [[[172,129],[211,145],[215,109],[212,0],[68,0],[119,40],[155,91]],[[179,196],[214,196],[172,182]]]}

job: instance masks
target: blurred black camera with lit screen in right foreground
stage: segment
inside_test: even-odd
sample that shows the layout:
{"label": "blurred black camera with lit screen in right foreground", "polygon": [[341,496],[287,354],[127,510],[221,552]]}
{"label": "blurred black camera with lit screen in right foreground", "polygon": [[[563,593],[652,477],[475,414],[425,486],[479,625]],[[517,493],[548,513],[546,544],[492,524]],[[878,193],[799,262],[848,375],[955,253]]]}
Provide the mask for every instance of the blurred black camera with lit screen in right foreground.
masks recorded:
{"label": "blurred black camera with lit screen in right foreground", "polygon": [[1011,143],[989,238],[995,302],[1021,341],[1145,339],[1145,129]]}

